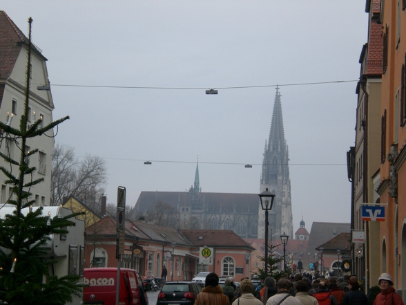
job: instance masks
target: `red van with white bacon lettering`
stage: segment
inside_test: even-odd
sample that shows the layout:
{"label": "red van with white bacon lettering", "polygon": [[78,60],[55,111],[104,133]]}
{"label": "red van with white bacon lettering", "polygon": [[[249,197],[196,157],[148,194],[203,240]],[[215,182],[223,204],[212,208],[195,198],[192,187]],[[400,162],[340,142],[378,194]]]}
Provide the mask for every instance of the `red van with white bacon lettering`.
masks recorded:
{"label": "red van with white bacon lettering", "polygon": [[[115,304],[117,288],[117,268],[86,268],[84,270],[84,304]],[[138,272],[132,269],[120,269],[119,304],[148,305],[148,296],[144,290]]]}

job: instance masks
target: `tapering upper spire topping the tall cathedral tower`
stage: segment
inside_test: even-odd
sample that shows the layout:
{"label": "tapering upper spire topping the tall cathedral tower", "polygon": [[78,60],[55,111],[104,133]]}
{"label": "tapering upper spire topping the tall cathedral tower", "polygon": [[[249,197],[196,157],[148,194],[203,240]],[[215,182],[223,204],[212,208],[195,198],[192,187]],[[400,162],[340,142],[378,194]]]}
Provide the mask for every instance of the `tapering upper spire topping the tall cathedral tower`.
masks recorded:
{"label": "tapering upper spire topping the tall cathedral tower", "polygon": [[271,130],[269,131],[268,149],[272,151],[284,151],[286,148],[284,140],[282,103],[280,102],[279,87],[276,86],[275,102],[273,104]]}

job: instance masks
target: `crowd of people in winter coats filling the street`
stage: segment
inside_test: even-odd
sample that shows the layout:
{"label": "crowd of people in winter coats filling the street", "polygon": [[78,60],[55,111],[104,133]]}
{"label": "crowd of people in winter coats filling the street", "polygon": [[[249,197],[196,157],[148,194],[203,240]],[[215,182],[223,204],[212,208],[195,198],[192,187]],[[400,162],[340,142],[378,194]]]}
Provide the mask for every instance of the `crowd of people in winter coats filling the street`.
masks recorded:
{"label": "crowd of people in winter coats filling the street", "polygon": [[[206,286],[197,295],[195,305],[369,305],[355,275],[346,276],[342,282],[335,277],[311,279],[300,274],[291,280],[282,277],[278,282],[267,277],[256,297],[248,278],[242,279],[240,287],[234,284],[233,277],[226,279],[224,288],[218,284],[218,275],[207,275]],[[380,275],[380,293],[374,305],[404,305],[393,285],[388,273]]]}

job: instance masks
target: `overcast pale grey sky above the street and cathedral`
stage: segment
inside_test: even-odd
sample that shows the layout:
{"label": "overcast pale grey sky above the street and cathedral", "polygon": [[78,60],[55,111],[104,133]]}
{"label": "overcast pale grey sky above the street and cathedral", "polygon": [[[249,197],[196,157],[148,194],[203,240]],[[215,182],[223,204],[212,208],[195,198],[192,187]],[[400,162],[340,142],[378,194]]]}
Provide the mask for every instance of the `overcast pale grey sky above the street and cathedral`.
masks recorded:
{"label": "overcast pale grey sky above the street and cathedral", "polygon": [[[356,82],[285,85],[358,79],[365,0],[18,0],[0,10],[24,33],[34,20],[53,118],[70,115],[56,141],[106,158],[108,203],[119,185],[127,205],[142,191],[189,189],[197,156],[203,192],[258,193],[280,84],[294,230],[302,216],[309,231],[350,221]],[[70,84],[186,89],[57,86]]]}

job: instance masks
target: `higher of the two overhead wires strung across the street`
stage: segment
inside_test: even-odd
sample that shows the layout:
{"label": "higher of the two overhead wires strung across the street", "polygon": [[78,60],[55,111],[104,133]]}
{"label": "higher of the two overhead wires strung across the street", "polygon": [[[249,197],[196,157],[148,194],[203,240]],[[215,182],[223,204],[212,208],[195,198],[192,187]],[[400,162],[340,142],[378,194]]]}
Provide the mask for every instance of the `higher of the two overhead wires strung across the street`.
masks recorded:
{"label": "higher of the two overhead wires strung across the street", "polygon": [[64,87],[82,87],[82,88],[111,88],[111,89],[155,89],[155,90],[204,90],[208,88],[215,89],[253,89],[253,88],[266,88],[276,86],[307,86],[314,84],[336,84],[344,82],[358,82],[359,80],[334,80],[330,82],[302,82],[293,84],[270,84],[270,85],[256,85],[256,86],[229,86],[229,87],[160,87],[160,86],[104,86],[104,85],[85,85],[85,84],[50,84],[50,86],[64,86]]}

